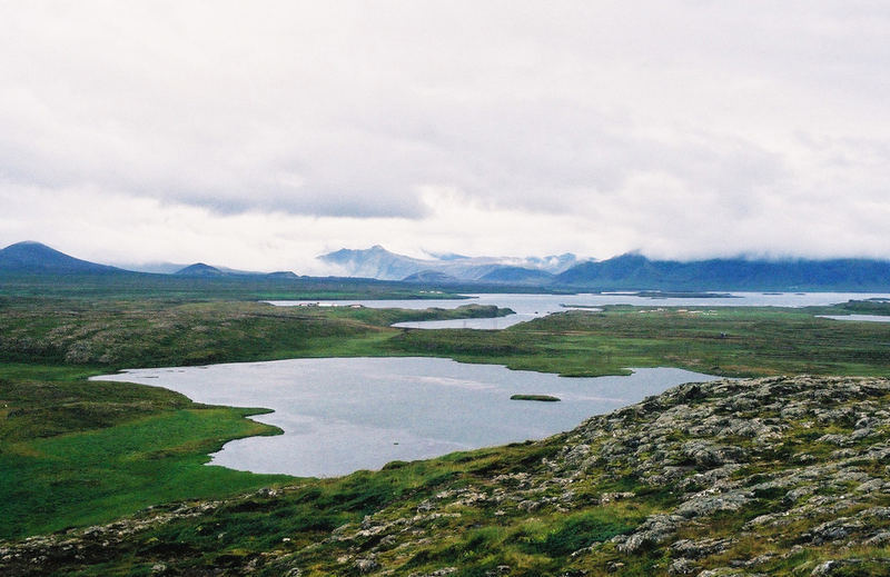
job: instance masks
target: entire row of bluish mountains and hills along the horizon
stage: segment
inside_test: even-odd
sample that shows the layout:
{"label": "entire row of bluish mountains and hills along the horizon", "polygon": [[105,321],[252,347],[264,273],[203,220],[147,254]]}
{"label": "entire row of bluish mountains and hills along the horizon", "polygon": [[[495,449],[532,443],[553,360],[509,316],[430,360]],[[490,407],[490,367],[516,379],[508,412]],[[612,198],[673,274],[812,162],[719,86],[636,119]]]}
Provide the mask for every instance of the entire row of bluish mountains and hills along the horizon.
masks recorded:
{"label": "entire row of bluish mountains and hills along the horizon", "polygon": [[[349,276],[404,280],[431,286],[532,287],[542,290],[775,290],[890,291],[890,261],[876,259],[709,259],[650,260],[623,255],[607,260],[577,262],[574,255],[527,259],[497,259],[461,255],[418,259],[383,247],[343,249],[323,255]],[[70,257],[46,245],[18,242],[0,250],[2,275],[139,275],[121,268]],[[177,277],[297,278],[289,271],[246,272],[201,262],[181,268]]]}

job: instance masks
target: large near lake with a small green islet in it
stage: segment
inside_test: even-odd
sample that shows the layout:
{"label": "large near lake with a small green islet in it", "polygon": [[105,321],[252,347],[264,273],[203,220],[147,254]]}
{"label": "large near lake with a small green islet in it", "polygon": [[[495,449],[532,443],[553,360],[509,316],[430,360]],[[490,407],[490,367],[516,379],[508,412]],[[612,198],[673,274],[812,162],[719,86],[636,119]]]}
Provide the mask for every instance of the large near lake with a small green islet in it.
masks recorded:
{"label": "large near lake with a small green islet in it", "polygon": [[[228,442],[211,462],[299,477],[540,439],[673,386],[715,378],[673,368],[564,378],[414,357],[290,359],[93,377],[164,387],[197,402],[274,409],[251,418],[280,427],[284,435]],[[562,400],[511,400],[516,394]]]}

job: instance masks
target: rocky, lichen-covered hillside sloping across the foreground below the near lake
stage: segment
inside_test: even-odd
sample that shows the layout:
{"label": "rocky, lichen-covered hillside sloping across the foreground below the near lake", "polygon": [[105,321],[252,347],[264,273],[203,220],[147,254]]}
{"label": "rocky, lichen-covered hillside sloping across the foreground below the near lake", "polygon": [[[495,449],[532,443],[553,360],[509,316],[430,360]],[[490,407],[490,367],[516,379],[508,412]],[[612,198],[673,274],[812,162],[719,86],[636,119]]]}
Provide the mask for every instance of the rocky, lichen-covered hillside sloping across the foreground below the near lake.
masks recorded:
{"label": "rocky, lichen-covered hillside sloping across the foreground below the near lake", "polygon": [[[435,480],[373,507],[308,480],[3,543],[0,573],[890,575],[888,379],[689,384],[550,439],[350,483],[422,468]],[[345,523],[275,533],[306,506]]]}

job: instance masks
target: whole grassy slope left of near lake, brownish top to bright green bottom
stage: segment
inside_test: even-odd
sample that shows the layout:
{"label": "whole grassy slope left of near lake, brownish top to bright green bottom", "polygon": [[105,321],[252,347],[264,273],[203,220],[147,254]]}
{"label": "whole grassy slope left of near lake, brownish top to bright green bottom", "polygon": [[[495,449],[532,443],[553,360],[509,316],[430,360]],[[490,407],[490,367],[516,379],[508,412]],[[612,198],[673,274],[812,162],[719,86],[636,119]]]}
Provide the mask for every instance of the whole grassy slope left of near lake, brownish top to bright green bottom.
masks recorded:
{"label": "whole grassy slope left of near lake, brownish top to bright green bottom", "polygon": [[289,480],[202,466],[226,440],[276,434],[245,419],[263,409],[196,405],[166,389],[80,380],[90,372],[98,371],[0,366],[0,538]]}

